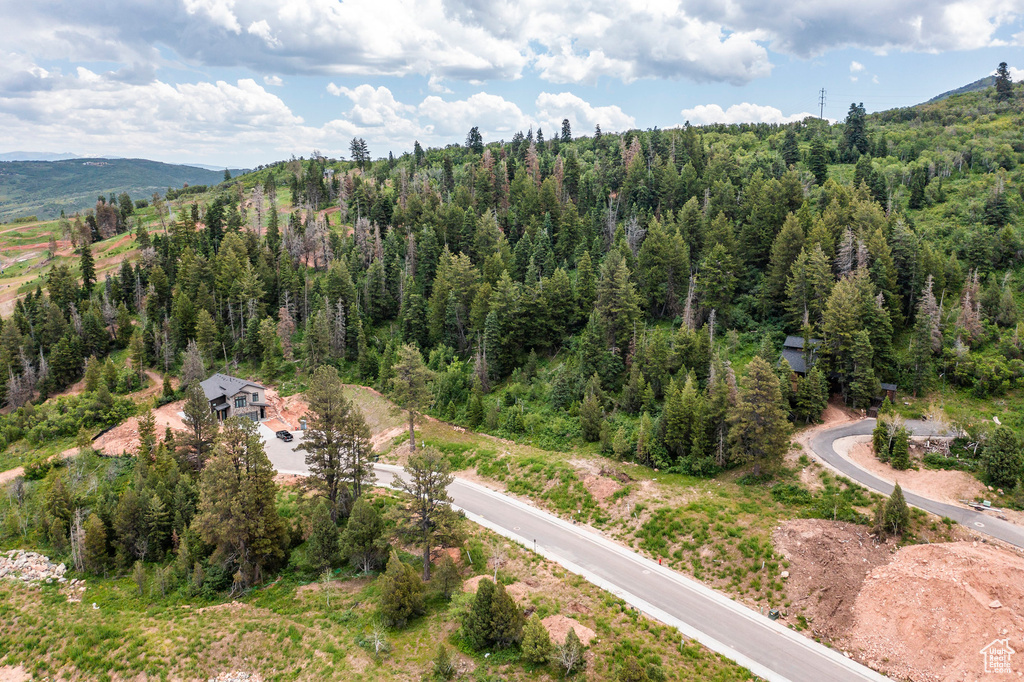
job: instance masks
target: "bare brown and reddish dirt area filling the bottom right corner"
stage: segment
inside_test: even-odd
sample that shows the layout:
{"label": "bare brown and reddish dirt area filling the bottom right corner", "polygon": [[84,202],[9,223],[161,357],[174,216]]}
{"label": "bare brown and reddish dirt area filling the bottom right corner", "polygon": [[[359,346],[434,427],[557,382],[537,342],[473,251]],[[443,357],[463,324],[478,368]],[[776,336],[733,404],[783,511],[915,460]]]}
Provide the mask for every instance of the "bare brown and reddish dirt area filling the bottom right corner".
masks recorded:
{"label": "bare brown and reddish dirt area filling the bottom right corner", "polygon": [[989,679],[983,648],[1008,639],[1024,650],[1024,555],[957,535],[898,548],[849,523],[782,524],[785,622],[893,679]]}

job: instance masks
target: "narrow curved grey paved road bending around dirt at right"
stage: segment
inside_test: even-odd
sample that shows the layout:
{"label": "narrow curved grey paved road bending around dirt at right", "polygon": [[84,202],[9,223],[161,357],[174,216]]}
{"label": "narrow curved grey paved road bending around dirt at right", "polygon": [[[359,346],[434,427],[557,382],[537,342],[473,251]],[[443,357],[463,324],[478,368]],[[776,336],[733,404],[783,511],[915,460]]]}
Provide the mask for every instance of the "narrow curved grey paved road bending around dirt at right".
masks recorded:
{"label": "narrow curved grey paved road bending around dirt at right", "polygon": [[[873,419],[862,419],[853,424],[837,426],[836,428],[821,431],[811,437],[811,450],[843,475],[852,478],[872,491],[889,495],[893,492],[893,484],[891,482],[864,471],[837,453],[833,446],[833,443],[839,438],[852,435],[869,435],[874,429],[874,423]],[[938,430],[936,424],[933,422],[907,421],[906,425],[914,435],[942,435],[942,432]],[[923,498],[920,495],[907,493],[906,491],[903,491],[903,496],[906,498],[907,504],[920,507],[938,516],[948,516],[964,526],[1024,548],[1024,528],[1000,520],[991,512],[979,512],[970,507],[936,502],[935,500],[929,500],[928,498]]]}

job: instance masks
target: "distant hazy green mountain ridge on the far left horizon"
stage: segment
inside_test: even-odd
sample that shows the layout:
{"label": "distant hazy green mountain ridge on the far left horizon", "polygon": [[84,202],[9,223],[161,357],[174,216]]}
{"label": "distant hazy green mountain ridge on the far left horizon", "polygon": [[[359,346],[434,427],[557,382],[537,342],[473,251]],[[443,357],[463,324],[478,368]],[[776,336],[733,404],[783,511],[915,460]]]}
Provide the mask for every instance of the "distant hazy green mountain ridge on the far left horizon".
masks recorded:
{"label": "distant hazy green mountain ridge on the far left horizon", "polygon": [[[243,171],[231,171],[232,175]],[[224,170],[164,164],[144,159],[68,159],[0,163],[0,220],[28,215],[55,218],[96,205],[99,195],[127,191],[135,200],[168,187],[218,184]]]}

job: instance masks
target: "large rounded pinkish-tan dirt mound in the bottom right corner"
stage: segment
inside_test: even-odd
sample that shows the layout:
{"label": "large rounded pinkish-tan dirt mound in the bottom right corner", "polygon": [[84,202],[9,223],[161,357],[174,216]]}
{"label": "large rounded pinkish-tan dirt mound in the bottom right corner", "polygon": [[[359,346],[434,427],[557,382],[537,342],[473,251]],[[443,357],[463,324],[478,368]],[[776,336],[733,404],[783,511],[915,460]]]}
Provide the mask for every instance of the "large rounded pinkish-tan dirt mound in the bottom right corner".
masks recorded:
{"label": "large rounded pinkish-tan dirt mound in the bottom right corner", "polygon": [[855,608],[850,650],[872,668],[900,679],[988,679],[983,647],[998,638],[1024,651],[1024,557],[979,543],[904,547],[871,571]]}

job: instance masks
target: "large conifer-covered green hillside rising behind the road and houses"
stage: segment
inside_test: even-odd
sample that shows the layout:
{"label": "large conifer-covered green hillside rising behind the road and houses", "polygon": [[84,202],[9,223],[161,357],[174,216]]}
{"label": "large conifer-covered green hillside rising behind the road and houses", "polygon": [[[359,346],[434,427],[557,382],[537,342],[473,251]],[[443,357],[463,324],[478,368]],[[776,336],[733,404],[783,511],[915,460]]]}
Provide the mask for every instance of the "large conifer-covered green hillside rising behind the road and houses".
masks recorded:
{"label": "large conifer-covered green hillside rising behind the road and houses", "polygon": [[[831,392],[867,408],[881,382],[1018,386],[1015,94],[853,104],[836,125],[566,121],[489,143],[474,128],[379,161],[355,139],[355,161],[169,197],[166,231],[139,222],[139,257],[103,282],[88,242],[105,235],[73,230],[83,267],[54,266],[3,321],[0,387],[18,408],[118,348],[170,372],[196,340],[208,368],[301,387],[330,364],[389,390],[409,344],[431,372],[425,408],[447,420],[699,475],[758,471]],[[786,335],[808,340],[806,376],[779,363]]]}

